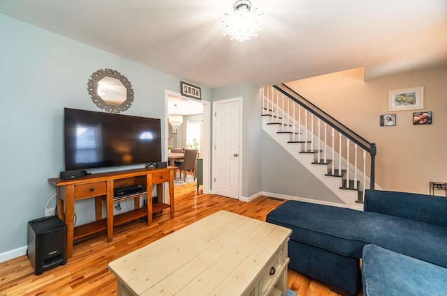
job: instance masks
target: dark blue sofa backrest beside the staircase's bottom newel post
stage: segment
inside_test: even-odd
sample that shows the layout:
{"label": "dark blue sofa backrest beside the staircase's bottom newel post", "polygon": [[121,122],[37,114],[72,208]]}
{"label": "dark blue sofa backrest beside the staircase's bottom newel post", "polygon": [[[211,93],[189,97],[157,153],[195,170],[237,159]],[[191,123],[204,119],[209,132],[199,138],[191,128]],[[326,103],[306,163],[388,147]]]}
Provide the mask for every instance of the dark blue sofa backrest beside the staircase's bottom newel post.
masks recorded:
{"label": "dark blue sofa backrest beside the staircase's bottom newel post", "polygon": [[363,210],[447,227],[447,198],[441,196],[367,189]]}

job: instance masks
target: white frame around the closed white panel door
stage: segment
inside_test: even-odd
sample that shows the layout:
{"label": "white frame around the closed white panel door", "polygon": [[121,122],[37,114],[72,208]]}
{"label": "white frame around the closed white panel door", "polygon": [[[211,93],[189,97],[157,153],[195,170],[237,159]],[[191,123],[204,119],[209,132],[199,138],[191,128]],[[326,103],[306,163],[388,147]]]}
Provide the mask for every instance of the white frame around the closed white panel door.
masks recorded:
{"label": "white frame around the closed white panel door", "polygon": [[[242,161],[244,154],[242,153],[242,97],[236,97],[236,98],[230,98],[226,100],[219,100],[212,102],[212,109],[213,109],[213,116],[212,116],[212,163],[216,164],[216,153],[214,151],[216,150],[216,113],[214,110],[216,110],[217,104],[226,104],[229,102],[237,102],[239,104],[239,152],[238,152],[238,158],[239,158],[239,171],[238,178],[237,178],[237,199],[240,200],[242,197]],[[212,184],[214,184],[214,176],[216,176],[216,166],[212,166]],[[214,191],[214,187],[212,189],[212,193],[216,194]]]}

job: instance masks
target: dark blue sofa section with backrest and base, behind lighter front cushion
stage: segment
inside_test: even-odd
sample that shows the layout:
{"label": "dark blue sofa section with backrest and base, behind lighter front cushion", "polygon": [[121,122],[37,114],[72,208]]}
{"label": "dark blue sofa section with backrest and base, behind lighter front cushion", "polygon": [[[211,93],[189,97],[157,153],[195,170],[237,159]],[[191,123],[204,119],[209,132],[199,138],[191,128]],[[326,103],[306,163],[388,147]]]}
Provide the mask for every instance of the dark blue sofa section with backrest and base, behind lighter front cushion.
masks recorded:
{"label": "dark blue sofa section with backrest and base, behind lighter front cushion", "polygon": [[342,295],[358,293],[367,244],[447,267],[447,198],[441,196],[367,190],[363,211],[286,201],[266,221],[293,231],[289,267]]}

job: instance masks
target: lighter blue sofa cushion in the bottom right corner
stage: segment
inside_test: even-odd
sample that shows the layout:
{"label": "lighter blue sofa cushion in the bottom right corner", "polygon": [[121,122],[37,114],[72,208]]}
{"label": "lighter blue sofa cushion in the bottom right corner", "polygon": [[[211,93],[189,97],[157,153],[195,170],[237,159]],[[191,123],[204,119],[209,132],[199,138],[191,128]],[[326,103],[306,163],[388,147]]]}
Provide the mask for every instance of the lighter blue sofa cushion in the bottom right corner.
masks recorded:
{"label": "lighter blue sofa cushion in the bottom right corner", "polygon": [[364,296],[445,295],[447,269],[367,244],[362,255]]}

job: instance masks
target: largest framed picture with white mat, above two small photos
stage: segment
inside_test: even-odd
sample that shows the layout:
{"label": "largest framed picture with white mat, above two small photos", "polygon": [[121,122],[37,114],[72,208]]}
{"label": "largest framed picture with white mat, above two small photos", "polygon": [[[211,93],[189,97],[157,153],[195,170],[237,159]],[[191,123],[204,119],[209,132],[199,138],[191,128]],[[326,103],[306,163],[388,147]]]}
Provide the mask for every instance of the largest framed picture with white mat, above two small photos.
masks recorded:
{"label": "largest framed picture with white mat, above two small photos", "polygon": [[388,91],[388,111],[424,109],[424,87]]}

